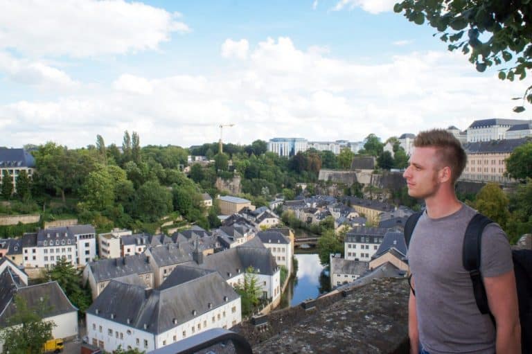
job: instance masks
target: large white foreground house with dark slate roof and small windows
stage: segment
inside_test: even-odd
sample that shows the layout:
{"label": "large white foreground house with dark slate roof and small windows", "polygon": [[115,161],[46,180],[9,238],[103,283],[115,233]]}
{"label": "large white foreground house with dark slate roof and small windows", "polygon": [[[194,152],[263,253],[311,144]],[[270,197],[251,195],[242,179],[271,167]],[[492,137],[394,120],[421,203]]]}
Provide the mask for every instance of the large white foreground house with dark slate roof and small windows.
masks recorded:
{"label": "large white foreground house with dark slate roof and small windows", "polygon": [[89,343],[108,352],[149,352],[242,321],[240,296],[218,272],[182,265],[156,290],[112,281],[86,317]]}

